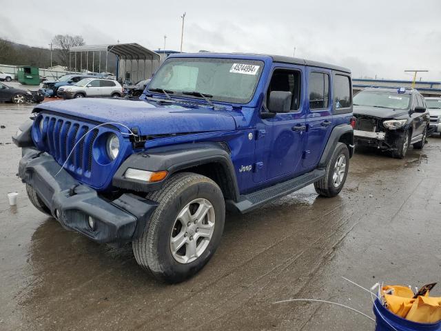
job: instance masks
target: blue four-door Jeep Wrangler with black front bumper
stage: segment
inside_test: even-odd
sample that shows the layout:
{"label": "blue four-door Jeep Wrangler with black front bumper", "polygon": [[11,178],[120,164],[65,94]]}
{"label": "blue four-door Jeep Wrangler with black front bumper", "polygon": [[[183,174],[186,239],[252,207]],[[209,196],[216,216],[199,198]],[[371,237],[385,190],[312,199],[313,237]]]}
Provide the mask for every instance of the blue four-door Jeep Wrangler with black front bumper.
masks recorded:
{"label": "blue four-door Jeep Wrangler with black front bumper", "polygon": [[353,154],[350,70],[258,54],[173,54],[139,100],[43,103],[13,137],[30,201],[179,282],[209,261],[225,210],[314,183],[334,197]]}

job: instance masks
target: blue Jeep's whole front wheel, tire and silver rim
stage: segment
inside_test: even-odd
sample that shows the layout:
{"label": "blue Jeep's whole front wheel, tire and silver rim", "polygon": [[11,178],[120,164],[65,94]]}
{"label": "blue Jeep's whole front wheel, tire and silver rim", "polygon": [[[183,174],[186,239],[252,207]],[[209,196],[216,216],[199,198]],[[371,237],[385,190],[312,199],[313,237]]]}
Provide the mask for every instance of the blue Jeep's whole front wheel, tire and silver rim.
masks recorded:
{"label": "blue Jeep's whole front wheel, tire and silver rim", "polygon": [[192,277],[220,243],[225,221],[222,191],[205,176],[181,172],[147,198],[159,204],[132,243],[136,261],[161,281],[178,283]]}

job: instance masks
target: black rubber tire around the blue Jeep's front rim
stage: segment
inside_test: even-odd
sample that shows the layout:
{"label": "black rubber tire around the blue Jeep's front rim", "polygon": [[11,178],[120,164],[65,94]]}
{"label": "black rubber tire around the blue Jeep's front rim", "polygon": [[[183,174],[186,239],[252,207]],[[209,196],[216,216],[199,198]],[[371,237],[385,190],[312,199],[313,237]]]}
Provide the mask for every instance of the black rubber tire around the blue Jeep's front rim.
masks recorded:
{"label": "black rubber tire around the blue Jeep's front rim", "polygon": [[[201,174],[181,172],[167,180],[163,188],[147,195],[157,201],[148,228],[132,242],[136,261],[156,279],[178,283],[192,277],[212,257],[220,243],[225,221],[225,201],[218,185]],[[194,261],[179,263],[172,255],[170,241],[178,213],[194,199],[207,199],[213,207],[215,222],[205,250]],[[192,240],[189,238],[189,240]],[[195,241],[196,242],[196,241]],[[187,249],[185,246],[185,250]]]}

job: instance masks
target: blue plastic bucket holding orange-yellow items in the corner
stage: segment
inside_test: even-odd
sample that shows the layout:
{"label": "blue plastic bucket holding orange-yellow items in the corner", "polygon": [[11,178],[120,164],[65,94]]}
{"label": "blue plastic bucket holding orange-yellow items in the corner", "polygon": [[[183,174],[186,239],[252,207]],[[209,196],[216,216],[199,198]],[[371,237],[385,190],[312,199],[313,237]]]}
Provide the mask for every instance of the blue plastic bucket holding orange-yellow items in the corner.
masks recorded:
{"label": "blue plastic bucket holding orange-yellow items in the corner", "polygon": [[[402,317],[393,314],[390,310],[385,308],[378,299],[373,303],[373,313],[376,316],[376,331],[437,331],[441,330],[441,321],[438,323],[417,323],[403,319]],[[392,328],[392,326],[393,329]]]}

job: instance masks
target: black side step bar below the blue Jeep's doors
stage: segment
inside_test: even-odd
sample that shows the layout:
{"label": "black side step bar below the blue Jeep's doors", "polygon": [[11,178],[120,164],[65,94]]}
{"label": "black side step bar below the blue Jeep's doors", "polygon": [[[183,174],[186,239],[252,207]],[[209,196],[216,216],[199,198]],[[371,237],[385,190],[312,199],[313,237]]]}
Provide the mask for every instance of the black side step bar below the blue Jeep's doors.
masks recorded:
{"label": "black side step bar below the blue Jeep's doors", "polygon": [[324,176],[324,169],[316,169],[306,174],[302,174],[297,178],[269,186],[269,188],[263,188],[247,195],[241,195],[238,202],[227,200],[227,208],[229,210],[238,210],[241,213],[249,212],[271,200],[283,197],[296,190],[300,190],[300,188],[304,188],[305,186],[322,179]]}

